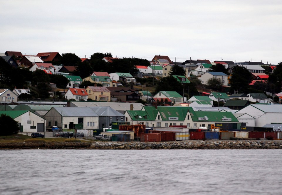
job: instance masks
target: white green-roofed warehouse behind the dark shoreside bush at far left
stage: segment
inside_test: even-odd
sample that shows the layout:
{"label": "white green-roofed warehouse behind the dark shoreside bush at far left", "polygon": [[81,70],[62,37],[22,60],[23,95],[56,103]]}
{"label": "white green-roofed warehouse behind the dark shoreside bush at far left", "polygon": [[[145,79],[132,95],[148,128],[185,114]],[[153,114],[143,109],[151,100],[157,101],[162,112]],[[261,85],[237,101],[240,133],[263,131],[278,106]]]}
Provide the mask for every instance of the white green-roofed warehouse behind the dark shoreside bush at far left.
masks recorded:
{"label": "white green-roofed warehouse behind the dark shoreside bush at far left", "polygon": [[44,132],[46,120],[31,111],[0,111],[18,122],[21,132]]}

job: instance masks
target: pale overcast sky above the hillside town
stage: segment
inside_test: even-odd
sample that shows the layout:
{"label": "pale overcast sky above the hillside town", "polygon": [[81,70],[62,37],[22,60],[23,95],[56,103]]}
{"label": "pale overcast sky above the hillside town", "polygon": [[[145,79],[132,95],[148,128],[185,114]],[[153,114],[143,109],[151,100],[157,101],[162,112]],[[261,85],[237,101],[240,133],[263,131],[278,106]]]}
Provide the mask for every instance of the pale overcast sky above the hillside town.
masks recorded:
{"label": "pale overcast sky above the hillside town", "polygon": [[281,0],[2,0],[0,5],[1,53],[282,61]]}

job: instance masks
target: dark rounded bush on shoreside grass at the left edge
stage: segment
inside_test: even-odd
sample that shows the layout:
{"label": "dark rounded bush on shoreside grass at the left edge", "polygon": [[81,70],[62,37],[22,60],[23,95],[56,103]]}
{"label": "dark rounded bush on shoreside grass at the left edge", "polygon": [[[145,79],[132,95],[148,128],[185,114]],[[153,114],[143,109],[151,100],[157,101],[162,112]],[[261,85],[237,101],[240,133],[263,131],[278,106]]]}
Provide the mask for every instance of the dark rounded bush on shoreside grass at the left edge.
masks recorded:
{"label": "dark rounded bush on shoreside grass at the left edge", "polygon": [[20,130],[18,122],[6,114],[0,115],[0,127],[0,135],[10,135]]}

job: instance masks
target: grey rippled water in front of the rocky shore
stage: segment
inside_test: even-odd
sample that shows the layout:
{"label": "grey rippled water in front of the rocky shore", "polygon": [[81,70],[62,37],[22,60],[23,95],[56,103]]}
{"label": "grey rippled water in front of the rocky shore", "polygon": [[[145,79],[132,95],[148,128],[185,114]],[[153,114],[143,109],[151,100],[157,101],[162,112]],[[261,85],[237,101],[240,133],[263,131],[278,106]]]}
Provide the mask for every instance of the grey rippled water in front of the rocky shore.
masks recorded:
{"label": "grey rippled water in front of the rocky shore", "polygon": [[282,150],[0,150],[0,194],[282,194]]}

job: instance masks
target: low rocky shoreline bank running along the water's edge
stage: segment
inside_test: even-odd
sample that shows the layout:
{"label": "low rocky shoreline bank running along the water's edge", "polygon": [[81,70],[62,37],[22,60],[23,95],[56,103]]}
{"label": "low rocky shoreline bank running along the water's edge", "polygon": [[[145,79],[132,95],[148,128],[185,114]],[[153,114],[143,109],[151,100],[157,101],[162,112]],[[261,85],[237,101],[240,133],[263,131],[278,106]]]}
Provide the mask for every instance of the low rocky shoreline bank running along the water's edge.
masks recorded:
{"label": "low rocky shoreline bank running along the water's edge", "polygon": [[281,140],[186,140],[170,142],[15,142],[0,149],[282,149]]}

